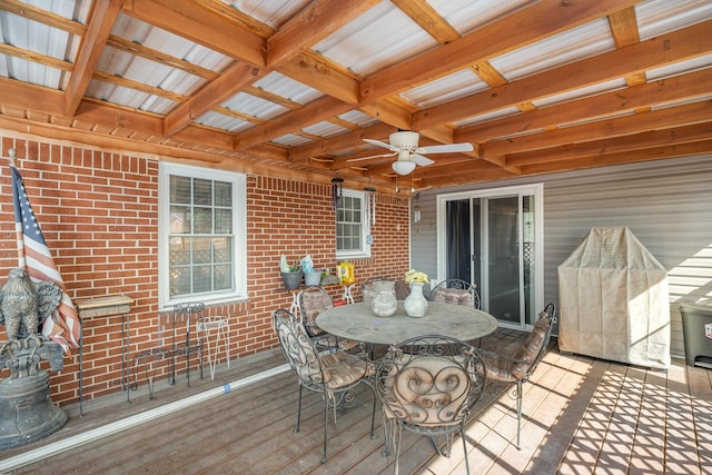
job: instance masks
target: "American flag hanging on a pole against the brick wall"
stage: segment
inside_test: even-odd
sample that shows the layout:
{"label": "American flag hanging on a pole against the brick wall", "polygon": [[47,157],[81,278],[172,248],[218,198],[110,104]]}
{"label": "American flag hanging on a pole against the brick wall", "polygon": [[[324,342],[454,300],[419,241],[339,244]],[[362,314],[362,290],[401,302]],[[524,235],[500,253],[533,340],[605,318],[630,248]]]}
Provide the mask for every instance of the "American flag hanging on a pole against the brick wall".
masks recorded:
{"label": "American flag hanging on a pole against the brick wall", "polygon": [[12,195],[14,199],[14,229],[18,236],[19,266],[27,269],[32,281],[53,280],[62,289],[62,299],[55,315],[47,317],[42,325],[42,335],[57,342],[66,354],[70,347],[77,348],[81,338],[81,321],[67,287],[59,275],[52,255],[47,247],[40,225],[37,222],[24,190],[20,172],[12,169]]}

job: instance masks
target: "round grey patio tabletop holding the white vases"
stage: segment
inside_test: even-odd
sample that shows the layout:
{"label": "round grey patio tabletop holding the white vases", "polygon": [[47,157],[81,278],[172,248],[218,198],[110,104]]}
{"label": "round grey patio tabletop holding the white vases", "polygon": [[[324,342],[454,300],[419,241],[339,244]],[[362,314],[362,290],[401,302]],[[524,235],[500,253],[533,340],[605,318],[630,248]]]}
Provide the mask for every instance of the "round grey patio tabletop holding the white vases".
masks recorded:
{"label": "round grey patio tabletop holding the white vases", "polygon": [[378,317],[370,309],[370,303],[359,301],[323,311],[316,324],[342,338],[383,345],[423,335],[444,335],[471,342],[497,329],[497,319],[486,311],[442,301],[428,301],[423,317],[408,317],[402,300],[390,317]]}

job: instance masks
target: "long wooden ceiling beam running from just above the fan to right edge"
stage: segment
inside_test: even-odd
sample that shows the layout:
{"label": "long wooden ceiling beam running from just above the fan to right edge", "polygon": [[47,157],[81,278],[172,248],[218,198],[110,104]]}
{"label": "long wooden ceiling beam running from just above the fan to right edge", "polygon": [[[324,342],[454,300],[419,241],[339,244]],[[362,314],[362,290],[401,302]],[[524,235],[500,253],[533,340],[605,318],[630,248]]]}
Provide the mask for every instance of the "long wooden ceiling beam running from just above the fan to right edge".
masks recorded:
{"label": "long wooden ceiling beam running from just above the fan to right edge", "polygon": [[[476,117],[506,107],[516,107],[599,82],[644,72],[712,51],[712,20],[647,41],[565,65],[466,98],[424,109],[413,115],[413,127]],[[632,61],[634,61],[632,63]]]}

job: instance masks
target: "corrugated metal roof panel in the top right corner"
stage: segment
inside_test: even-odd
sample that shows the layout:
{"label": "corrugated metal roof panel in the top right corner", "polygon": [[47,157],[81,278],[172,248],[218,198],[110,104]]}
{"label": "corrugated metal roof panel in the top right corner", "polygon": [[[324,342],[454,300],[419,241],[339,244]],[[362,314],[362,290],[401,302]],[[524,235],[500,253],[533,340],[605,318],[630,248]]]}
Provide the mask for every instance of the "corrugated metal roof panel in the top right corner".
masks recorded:
{"label": "corrugated metal roof panel in the top right corner", "polygon": [[635,6],[641,41],[712,18],[710,0],[650,0]]}

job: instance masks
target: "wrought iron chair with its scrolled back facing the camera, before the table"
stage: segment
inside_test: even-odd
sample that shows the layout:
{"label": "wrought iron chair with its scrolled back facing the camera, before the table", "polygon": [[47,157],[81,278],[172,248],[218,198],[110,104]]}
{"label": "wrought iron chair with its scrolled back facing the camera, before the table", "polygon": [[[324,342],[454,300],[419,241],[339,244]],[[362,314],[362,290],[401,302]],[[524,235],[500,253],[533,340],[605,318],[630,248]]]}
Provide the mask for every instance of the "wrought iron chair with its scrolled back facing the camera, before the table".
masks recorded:
{"label": "wrought iron chair with its scrolled back facing the camera, before the table", "polygon": [[447,456],[459,432],[469,473],[464,427],[486,384],[482,358],[472,345],[439,335],[402,342],[379,363],[375,384],[383,406],[384,454],[395,441],[396,474],[404,429],[428,436],[441,454],[433,437],[444,435]]}

